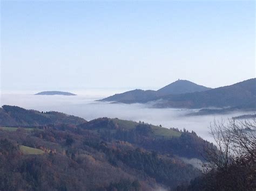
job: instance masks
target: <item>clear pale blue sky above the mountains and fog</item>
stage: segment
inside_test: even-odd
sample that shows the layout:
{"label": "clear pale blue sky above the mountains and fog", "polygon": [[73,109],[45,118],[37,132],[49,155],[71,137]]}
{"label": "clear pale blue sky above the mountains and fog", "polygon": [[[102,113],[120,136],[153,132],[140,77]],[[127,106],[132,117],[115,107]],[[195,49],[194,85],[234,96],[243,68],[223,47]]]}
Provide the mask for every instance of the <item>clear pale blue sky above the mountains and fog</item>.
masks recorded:
{"label": "clear pale blue sky above the mountains and fog", "polygon": [[254,1],[1,1],[1,91],[255,77]]}

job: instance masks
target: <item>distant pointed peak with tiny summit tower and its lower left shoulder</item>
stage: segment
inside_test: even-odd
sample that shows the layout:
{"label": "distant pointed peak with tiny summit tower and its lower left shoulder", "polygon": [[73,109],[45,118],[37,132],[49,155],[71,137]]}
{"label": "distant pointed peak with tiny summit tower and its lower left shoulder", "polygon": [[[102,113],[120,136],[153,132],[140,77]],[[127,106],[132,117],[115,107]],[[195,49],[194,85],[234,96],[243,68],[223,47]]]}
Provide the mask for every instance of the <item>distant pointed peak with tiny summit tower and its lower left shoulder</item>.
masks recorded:
{"label": "distant pointed peak with tiny summit tower and its lower left shoulder", "polygon": [[151,100],[157,100],[160,96],[170,95],[170,94],[184,94],[192,93],[196,91],[205,91],[211,88],[200,86],[196,83],[187,80],[177,80],[169,85],[160,88],[157,91],[154,90],[141,90],[135,89],[131,91],[126,91],[122,94],[115,94],[110,97],[106,97],[99,101],[109,101],[109,102],[122,102],[122,103],[145,103]]}

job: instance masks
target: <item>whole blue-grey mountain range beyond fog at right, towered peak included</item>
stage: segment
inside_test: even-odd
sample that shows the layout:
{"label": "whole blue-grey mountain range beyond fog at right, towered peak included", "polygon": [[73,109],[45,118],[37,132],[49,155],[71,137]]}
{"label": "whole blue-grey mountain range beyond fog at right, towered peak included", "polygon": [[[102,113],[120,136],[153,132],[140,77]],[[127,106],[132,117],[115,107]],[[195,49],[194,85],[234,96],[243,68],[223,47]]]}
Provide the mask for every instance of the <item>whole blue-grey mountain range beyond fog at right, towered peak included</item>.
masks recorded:
{"label": "whole blue-grey mountain range beyond fog at right, towered peak included", "polygon": [[[170,94],[169,94],[170,93]],[[186,80],[178,80],[153,90],[132,90],[100,101],[120,103],[147,103],[158,101],[156,108],[231,108],[230,110],[256,110],[256,79],[249,79],[219,88],[207,88]],[[220,110],[218,110],[219,112]],[[212,111],[207,111],[207,113]],[[205,113],[202,112],[202,114]]]}

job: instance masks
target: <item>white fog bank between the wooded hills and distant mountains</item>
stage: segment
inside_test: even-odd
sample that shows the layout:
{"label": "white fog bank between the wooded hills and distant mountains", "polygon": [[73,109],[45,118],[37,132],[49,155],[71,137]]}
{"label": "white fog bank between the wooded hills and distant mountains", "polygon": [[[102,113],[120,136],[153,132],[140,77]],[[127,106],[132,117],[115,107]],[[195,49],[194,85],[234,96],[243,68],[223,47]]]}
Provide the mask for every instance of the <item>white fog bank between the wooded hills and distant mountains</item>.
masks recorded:
{"label": "white fog bank between the wooded hills and distant mountains", "polygon": [[[91,91],[90,91],[91,92]],[[111,94],[110,94],[111,95]],[[189,109],[156,109],[144,104],[110,104],[95,102],[105,97],[99,91],[78,96],[48,96],[29,94],[2,94],[0,104],[17,105],[25,109],[38,111],[59,111],[66,114],[83,117],[87,121],[98,117],[120,118],[132,121],[144,121],[165,128],[185,128],[195,131],[200,137],[212,142],[208,133],[210,122],[215,119],[228,119],[233,116],[247,114],[232,113],[228,115],[185,116],[192,112]]]}

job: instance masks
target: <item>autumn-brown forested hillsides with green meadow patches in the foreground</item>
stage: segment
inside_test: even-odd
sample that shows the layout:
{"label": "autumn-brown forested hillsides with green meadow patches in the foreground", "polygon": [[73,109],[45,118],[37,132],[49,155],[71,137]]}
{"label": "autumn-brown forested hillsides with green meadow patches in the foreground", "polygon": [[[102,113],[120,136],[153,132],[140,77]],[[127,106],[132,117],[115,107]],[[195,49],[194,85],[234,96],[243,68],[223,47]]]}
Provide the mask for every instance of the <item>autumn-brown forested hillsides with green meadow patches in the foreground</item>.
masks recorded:
{"label": "autumn-brown forested hillsides with green meadow patches in the foreground", "polygon": [[[15,110],[19,122],[26,116],[19,112],[31,111],[6,108],[4,113]],[[214,148],[186,130],[117,118],[77,119],[74,124],[0,128],[0,190],[173,189],[201,174],[180,157],[201,159],[204,148]]]}

